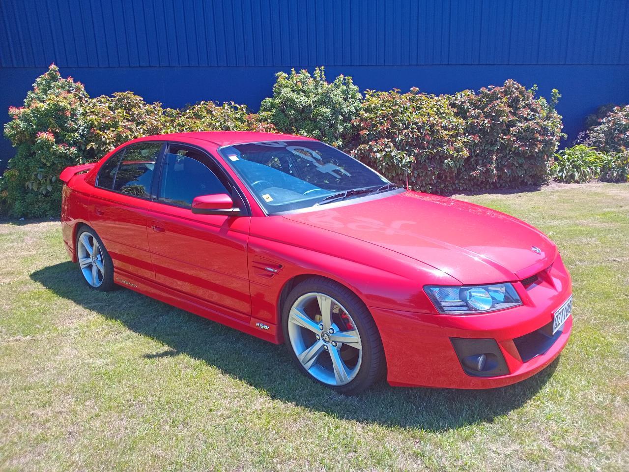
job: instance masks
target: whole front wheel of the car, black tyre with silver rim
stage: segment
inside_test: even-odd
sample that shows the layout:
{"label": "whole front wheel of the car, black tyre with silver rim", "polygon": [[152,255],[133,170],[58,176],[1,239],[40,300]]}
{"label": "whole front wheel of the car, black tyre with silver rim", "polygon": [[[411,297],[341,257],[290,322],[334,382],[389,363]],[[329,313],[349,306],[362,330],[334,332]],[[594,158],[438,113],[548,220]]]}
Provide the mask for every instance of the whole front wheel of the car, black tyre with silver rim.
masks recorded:
{"label": "whole front wheel of the car, black tyre with silver rim", "polygon": [[298,366],[343,395],[365,390],[384,371],[382,341],[369,310],[329,279],[307,279],[291,290],[282,329]]}

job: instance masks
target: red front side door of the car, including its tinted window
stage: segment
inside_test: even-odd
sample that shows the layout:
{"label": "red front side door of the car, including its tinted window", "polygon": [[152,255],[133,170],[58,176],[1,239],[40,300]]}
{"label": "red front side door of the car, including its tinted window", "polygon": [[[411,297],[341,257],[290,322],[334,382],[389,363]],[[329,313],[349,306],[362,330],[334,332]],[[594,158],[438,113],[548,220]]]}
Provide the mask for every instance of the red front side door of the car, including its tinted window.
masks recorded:
{"label": "red front side door of the car, including its tinted window", "polygon": [[[195,215],[192,199],[235,189],[205,152],[169,144],[162,159],[157,199],[148,208],[148,243],[155,279],[248,321],[249,216]],[[244,205],[240,201],[240,206]]]}

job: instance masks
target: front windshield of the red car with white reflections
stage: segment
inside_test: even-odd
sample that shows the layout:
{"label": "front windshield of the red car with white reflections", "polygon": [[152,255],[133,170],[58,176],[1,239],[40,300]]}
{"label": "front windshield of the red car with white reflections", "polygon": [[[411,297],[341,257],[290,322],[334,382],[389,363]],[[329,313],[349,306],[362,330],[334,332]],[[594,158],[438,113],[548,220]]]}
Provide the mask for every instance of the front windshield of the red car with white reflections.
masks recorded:
{"label": "front windshield of the red car with white reflections", "polygon": [[268,213],[395,188],[376,171],[319,141],[266,141],[220,149]]}

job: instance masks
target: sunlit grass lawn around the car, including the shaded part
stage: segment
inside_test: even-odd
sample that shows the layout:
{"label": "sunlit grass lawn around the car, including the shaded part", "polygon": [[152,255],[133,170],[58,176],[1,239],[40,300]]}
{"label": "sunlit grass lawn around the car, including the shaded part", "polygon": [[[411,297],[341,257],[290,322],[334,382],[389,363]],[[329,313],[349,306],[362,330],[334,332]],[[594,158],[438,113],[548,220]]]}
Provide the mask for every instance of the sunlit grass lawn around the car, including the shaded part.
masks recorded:
{"label": "sunlit grass lawn around the car, including the shaded part", "polygon": [[629,184],[459,196],[557,242],[558,361],[488,391],[354,398],[273,346],[126,289],[89,291],[58,222],[0,225],[0,470],[629,470]]}

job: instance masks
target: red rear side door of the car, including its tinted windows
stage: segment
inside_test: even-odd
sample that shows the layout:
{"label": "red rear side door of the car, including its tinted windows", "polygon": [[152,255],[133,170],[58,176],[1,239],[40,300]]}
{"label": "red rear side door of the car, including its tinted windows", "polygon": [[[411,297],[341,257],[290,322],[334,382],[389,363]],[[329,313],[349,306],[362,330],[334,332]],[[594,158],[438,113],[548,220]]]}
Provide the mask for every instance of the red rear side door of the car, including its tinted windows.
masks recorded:
{"label": "red rear side door of the car, including its tinted windows", "polygon": [[89,204],[94,230],[117,273],[155,280],[148,250],[147,212],[162,142],[128,145],[110,157],[96,179]]}

